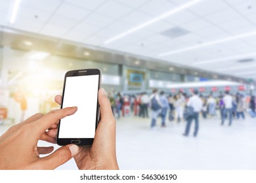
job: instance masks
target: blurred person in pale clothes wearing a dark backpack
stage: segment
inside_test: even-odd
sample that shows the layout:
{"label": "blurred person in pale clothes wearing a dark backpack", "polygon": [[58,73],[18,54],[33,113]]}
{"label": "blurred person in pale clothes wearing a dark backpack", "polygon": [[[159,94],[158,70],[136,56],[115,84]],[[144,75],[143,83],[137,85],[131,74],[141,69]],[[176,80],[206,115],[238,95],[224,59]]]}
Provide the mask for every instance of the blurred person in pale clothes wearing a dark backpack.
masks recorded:
{"label": "blurred person in pale clothes wearing a dark backpack", "polygon": [[152,109],[151,129],[154,129],[154,127],[156,127],[156,121],[158,120],[158,116],[159,116],[159,114],[161,112],[161,108],[162,108],[157,89],[154,89],[152,92],[152,95],[150,96],[150,107]]}

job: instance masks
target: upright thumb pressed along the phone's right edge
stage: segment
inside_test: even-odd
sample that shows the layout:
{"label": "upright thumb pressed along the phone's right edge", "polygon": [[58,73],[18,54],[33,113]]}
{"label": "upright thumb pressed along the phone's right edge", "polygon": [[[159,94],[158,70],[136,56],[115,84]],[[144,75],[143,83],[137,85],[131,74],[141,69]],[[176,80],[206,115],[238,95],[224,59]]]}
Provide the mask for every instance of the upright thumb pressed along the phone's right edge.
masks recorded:
{"label": "upright thumb pressed along the phone's right edge", "polygon": [[98,104],[100,105],[100,121],[102,121],[104,118],[114,118],[110,100],[106,96],[104,88],[100,88],[100,90],[98,90]]}

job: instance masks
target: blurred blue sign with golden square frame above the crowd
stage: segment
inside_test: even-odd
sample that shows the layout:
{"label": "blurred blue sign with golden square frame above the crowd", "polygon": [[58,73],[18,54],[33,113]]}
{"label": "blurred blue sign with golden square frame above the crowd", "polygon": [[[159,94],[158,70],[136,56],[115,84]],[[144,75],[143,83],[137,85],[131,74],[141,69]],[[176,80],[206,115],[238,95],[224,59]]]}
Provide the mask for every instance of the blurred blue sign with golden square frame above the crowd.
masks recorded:
{"label": "blurred blue sign with golden square frame above the crowd", "polygon": [[131,70],[131,69],[127,70],[128,85],[141,86],[144,79],[145,79],[144,71],[137,71],[137,70]]}

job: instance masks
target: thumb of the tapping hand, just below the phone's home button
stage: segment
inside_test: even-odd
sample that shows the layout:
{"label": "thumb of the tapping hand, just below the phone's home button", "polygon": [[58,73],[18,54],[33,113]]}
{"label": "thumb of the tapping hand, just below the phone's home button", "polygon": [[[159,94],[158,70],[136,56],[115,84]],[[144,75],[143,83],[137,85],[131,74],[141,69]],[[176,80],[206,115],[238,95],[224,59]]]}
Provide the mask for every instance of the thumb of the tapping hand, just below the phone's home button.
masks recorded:
{"label": "thumb of the tapping hand, just below the phone's home button", "polygon": [[58,150],[54,151],[53,154],[42,158],[42,166],[44,169],[56,169],[56,167],[59,167],[73,158],[78,151],[79,148],[75,144],[69,144],[58,148]]}

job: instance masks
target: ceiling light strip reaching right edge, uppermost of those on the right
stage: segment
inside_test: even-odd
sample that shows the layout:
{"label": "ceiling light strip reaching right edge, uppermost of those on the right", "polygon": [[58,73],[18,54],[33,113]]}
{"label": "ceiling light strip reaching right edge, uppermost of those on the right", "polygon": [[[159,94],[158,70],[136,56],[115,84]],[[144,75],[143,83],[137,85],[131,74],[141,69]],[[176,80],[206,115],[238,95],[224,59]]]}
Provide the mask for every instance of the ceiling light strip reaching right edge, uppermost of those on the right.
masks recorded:
{"label": "ceiling light strip reaching right edge, uppermost of those on the right", "polygon": [[232,37],[228,37],[228,38],[225,38],[225,39],[219,39],[217,41],[205,42],[205,43],[200,44],[200,45],[190,46],[190,47],[182,48],[180,50],[173,50],[171,52],[165,52],[165,53],[159,54],[158,56],[160,56],[160,57],[169,56],[171,54],[186,52],[188,50],[194,50],[194,49],[198,49],[198,48],[202,48],[202,47],[206,47],[206,46],[211,46],[211,45],[219,44],[219,43],[223,43],[223,42],[234,41],[236,39],[250,37],[250,36],[253,36],[253,35],[256,35],[256,31],[253,31],[253,32],[250,32],[250,33],[244,33],[244,34],[236,35],[236,36],[232,36]]}

